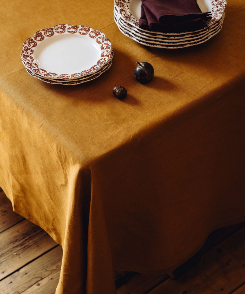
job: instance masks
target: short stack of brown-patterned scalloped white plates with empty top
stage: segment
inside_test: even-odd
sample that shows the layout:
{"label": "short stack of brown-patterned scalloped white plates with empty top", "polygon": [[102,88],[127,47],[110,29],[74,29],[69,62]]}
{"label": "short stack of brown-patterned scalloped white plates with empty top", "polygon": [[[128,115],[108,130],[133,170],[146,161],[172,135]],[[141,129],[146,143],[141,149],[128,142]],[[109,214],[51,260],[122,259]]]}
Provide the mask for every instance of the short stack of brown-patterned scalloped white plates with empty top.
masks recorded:
{"label": "short stack of brown-patterned scalloped white plates with empty top", "polygon": [[77,85],[99,77],[111,66],[111,42],[84,25],[44,28],[23,44],[21,59],[37,79],[62,85]]}

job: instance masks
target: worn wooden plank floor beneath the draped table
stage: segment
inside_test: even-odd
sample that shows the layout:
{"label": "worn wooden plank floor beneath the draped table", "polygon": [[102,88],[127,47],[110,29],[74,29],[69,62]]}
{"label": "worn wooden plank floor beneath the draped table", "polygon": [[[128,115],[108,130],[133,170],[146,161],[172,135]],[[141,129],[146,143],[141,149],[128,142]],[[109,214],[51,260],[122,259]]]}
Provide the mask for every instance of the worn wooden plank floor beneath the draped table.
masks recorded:
{"label": "worn wooden plank floor beneath the draped table", "polygon": [[[0,191],[0,294],[55,294],[61,262],[61,246]],[[117,294],[245,294],[245,222],[213,232],[173,276],[115,271]]]}

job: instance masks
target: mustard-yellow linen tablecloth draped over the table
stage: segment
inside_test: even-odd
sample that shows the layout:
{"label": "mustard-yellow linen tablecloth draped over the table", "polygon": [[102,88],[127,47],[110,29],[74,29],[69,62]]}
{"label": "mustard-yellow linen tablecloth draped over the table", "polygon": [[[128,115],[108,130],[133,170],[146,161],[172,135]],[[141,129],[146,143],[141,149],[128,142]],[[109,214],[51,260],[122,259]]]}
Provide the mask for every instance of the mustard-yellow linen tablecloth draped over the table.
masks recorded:
{"label": "mustard-yellow linen tablecloth draped over the table", "polygon": [[[0,186],[62,245],[56,294],[115,293],[113,269],[169,272],[245,220],[243,0],[216,36],[178,50],[122,35],[113,0],[0,3]],[[111,68],[76,86],[27,74],[23,42],[62,23],[103,31]],[[148,84],[137,60],[155,69]]]}

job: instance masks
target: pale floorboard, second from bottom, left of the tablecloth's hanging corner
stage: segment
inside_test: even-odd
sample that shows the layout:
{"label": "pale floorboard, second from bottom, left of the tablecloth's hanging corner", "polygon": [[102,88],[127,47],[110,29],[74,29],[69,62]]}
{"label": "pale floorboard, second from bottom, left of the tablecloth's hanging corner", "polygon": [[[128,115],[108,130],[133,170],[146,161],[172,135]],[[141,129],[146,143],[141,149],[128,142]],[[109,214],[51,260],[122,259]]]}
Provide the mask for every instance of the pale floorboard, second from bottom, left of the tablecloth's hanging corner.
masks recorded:
{"label": "pale floorboard, second from bottom, left of the tablecloth's hanging corner", "polygon": [[37,258],[27,266],[21,268],[9,277],[6,277],[0,282],[1,293],[22,293],[38,281],[59,270],[61,268],[62,254],[62,247],[55,247],[53,250]]}

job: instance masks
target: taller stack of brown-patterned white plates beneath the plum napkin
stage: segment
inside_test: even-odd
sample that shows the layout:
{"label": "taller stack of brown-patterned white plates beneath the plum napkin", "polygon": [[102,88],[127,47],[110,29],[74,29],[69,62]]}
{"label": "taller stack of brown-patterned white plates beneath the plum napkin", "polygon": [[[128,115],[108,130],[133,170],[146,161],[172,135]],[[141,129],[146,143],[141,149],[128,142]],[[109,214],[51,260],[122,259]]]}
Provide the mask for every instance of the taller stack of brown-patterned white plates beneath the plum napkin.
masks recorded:
{"label": "taller stack of brown-patterned white plates beneath the plum napkin", "polygon": [[212,19],[195,32],[162,33],[139,28],[141,0],[115,0],[114,20],[119,30],[136,42],[158,48],[183,48],[204,43],[222,28],[226,0],[197,0],[202,12],[211,11]]}

